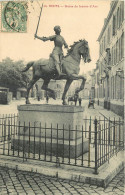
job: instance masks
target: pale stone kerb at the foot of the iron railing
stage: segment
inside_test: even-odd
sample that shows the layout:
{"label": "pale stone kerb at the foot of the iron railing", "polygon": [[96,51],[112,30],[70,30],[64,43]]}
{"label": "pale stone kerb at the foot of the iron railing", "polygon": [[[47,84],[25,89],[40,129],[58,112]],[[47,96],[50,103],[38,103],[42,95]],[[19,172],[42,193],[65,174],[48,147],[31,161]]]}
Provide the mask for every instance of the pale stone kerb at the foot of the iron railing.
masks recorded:
{"label": "pale stone kerb at the foot of the iron railing", "polygon": [[[120,154],[121,153],[121,154]],[[100,187],[107,187],[110,181],[123,169],[123,151],[110,159],[110,163],[105,163],[98,170],[98,175],[94,174],[92,169],[84,167],[73,167],[69,165],[58,166],[55,163],[48,163],[37,160],[27,160],[17,157],[8,157],[1,155],[0,166],[14,169],[16,172],[25,171],[38,173],[58,179],[66,179]]]}

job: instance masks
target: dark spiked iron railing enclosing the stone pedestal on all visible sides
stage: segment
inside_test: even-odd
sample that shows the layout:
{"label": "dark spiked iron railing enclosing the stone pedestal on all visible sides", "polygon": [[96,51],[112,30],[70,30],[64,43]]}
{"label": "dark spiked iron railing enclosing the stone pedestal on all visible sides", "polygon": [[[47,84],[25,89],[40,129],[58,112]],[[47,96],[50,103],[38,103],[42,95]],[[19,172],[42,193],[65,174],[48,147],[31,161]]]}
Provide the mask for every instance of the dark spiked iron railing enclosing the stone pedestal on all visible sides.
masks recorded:
{"label": "dark spiked iron railing enclosing the stone pedestal on all visible sides", "polygon": [[123,149],[123,121],[83,119],[80,129],[65,124],[21,123],[17,115],[0,118],[0,154],[94,169]]}

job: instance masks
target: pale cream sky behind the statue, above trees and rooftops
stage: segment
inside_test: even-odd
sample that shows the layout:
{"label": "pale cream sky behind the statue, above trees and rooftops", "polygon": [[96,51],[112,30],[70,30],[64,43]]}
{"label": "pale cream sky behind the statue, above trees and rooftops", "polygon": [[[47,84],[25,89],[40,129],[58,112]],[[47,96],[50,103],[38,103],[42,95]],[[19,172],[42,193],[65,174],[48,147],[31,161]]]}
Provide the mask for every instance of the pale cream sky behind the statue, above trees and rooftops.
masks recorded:
{"label": "pale cream sky behind the statue, above trees and rooftops", "polygon": [[[89,44],[92,61],[86,64],[81,61],[80,72],[86,73],[95,68],[99,57],[97,39],[110,9],[110,1],[108,0],[29,2],[30,13],[27,20],[27,32],[0,33],[0,61],[6,57],[10,57],[13,60],[23,59],[26,62],[49,57],[54,47],[53,42],[34,39],[42,3],[43,10],[37,35],[41,37],[54,35],[53,27],[60,25],[62,29],[61,35],[69,46],[74,41],[85,39]],[[65,49],[64,54],[66,54]]]}

